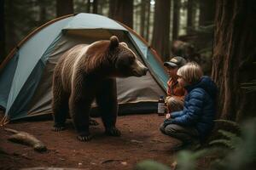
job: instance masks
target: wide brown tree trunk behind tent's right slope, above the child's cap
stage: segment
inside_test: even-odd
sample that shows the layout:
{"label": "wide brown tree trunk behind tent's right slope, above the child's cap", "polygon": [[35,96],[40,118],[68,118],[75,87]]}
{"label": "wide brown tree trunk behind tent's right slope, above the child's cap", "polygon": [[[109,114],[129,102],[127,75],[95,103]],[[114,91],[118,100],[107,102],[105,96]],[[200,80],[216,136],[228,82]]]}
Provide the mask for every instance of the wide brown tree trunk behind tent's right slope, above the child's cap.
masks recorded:
{"label": "wide brown tree trunk behind tent's right slope, above the child's cap", "polygon": [[170,11],[170,0],[155,1],[152,47],[160,54],[163,60],[168,59],[170,54]]}

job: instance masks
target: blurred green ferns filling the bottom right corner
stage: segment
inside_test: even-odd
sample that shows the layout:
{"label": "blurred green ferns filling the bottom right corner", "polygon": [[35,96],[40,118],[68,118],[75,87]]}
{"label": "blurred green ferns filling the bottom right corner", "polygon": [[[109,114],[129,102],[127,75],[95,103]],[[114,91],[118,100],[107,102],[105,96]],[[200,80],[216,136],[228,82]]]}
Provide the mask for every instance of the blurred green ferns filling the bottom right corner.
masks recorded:
{"label": "blurred green ferns filling the bottom right corner", "polygon": [[[256,166],[256,118],[243,122],[241,127],[236,122],[218,120],[218,122],[229,124],[241,130],[241,135],[230,133],[225,130],[218,130],[220,138],[210,142],[213,144],[224,144],[228,147],[210,147],[195,152],[182,150],[177,153],[177,170],[194,170],[198,162],[207,157],[214,158],[207,169],[211,170],[240,170],[252,169]],[[155,161],[153,162],[155,163]],[[148,165],[150,163],[148,162]],[[149,170],[149,167],[143,168]],[[156,168],[160,169],[160,168]],[[140,169],[139,169],[140,170]]]}

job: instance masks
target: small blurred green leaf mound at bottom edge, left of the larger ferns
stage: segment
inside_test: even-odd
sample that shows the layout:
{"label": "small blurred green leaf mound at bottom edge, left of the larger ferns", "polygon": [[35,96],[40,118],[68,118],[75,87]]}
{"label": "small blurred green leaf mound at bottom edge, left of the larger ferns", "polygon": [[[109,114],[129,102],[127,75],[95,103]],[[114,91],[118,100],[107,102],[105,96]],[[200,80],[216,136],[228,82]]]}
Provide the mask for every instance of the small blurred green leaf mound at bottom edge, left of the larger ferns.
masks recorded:
{"label": "small blurred green leaf mound at bottom edge, left of the larger ferns", "polygon": [[146,160],[138,163],[134,170],[171,170],[166,165],[153,160]]}

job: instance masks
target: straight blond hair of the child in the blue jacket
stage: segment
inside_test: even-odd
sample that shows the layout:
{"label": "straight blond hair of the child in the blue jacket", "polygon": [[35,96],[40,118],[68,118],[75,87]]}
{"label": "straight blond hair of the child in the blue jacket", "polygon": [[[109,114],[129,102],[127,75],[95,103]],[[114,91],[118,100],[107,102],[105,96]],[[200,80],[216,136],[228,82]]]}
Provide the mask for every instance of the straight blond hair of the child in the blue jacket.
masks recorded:
{"label": "straight blond hair of the child in the blue jacket", "polygon": [[183,77],[186,82],[193,84],[201,79],[203,71],[201,70],[201,66],[197,63],[189,62],[177,70],[177,76]]}

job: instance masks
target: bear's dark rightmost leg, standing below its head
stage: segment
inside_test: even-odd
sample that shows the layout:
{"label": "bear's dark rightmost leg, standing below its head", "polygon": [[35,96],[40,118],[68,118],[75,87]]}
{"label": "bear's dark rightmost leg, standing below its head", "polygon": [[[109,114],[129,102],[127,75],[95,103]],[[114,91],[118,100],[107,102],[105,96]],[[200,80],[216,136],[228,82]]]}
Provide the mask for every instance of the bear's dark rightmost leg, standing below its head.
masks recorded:
{"label": "bear's dark rightmost leg, standing below its head", "polygon": [[102,88],[96,94],[96,103],[102,115],[102,122],[106,129],[105,133],[110,136],[120,136],[119,129],[115,127],[118,113],[115,78],[102,82]]}

